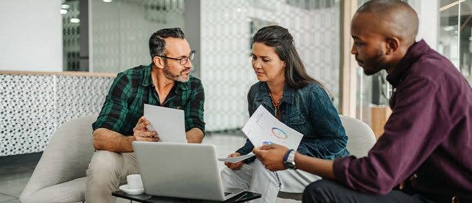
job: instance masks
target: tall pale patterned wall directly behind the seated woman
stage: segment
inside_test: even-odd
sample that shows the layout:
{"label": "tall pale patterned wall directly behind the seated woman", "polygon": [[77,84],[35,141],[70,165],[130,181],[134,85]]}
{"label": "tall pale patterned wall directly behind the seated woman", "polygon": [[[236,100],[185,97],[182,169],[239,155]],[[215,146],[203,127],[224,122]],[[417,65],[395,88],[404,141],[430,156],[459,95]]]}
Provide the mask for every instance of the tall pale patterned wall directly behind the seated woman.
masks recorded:
{"label": "tall pale patterned wall directly behind the seated woman", "polygon": [[289,29],[307,72],[324,83],[338,103],[338,1],[309,1],[308,7],[281,0],[201,3],[201,78],[209,131],[238,129],[247,120],[247,91],[256,83],[249,41],[252,26],[260,22]]}

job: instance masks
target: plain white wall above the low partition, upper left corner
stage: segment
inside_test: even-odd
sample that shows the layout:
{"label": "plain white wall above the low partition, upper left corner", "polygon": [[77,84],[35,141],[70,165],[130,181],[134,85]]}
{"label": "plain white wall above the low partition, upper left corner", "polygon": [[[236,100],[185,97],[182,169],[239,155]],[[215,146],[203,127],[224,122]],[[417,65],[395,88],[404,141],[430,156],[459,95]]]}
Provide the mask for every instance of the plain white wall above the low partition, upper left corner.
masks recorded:
{"label": "plain white wall above the low partition, upper left corner", "polygon": [[2,0],[0,70],[62,71],[61,0]]}

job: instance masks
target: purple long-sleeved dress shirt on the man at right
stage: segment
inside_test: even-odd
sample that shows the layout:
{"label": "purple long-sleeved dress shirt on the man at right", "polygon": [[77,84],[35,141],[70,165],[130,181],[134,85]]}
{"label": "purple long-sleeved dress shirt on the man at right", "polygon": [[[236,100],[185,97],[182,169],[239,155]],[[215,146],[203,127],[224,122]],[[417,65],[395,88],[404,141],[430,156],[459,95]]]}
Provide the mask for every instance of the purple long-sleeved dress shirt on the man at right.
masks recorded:
{"label": "purple long-sleeved dress shirt on the man at right", "polygon": [[387,194],[411,175],[420,193],[472,197],[472,89],[427,43],[412,45],[396,70],[392,114],[365,158],[334,161],[336,179],[356,191]]}

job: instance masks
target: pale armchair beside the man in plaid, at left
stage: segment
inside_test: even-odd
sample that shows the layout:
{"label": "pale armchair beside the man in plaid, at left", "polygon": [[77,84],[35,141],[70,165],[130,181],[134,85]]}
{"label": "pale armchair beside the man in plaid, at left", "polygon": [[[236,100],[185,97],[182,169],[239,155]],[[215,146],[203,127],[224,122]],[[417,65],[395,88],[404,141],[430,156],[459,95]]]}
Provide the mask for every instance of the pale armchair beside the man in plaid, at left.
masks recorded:
{"label": "pale armchair beside the man in plaid, at left", "polygon": [[19,197],[21,202],[85,201],[85,171],[94,153],[96,117],[74,118],[57,129]]}

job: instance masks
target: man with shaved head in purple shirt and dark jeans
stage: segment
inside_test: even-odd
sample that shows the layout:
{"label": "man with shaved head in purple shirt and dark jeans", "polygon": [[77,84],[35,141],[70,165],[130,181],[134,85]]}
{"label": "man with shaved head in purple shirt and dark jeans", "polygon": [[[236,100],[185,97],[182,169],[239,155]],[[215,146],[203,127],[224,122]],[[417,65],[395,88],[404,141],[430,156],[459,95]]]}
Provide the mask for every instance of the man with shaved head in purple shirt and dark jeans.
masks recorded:
{"label": "man with shaved head in purple shirt and dark jeans", "polygon": [[[393,86],[393,113],[367,157],[254,149],[271,171],[325,178],[307,186],[304,202],[472,202],[472,89],[447,58],[415,42],[417,32],[418,15],[400,0],[368,1],[353,17],[351,53],[367,75],[386,70]],[[408,190],[393,190],[404,180]]]}

